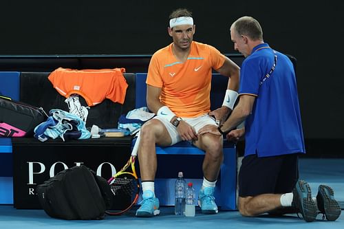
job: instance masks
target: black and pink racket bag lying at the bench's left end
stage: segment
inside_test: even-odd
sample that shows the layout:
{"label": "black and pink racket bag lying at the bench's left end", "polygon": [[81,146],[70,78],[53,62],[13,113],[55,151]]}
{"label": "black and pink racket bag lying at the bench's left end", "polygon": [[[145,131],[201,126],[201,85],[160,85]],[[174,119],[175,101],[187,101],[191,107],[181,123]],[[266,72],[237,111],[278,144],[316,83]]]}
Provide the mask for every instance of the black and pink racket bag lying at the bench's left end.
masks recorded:
{"label": "black and pink racket bag lying at the bench's left end", "polygon": [[0,96],[0,137],[33,136],[34,127],[46,119],[42,108]]}

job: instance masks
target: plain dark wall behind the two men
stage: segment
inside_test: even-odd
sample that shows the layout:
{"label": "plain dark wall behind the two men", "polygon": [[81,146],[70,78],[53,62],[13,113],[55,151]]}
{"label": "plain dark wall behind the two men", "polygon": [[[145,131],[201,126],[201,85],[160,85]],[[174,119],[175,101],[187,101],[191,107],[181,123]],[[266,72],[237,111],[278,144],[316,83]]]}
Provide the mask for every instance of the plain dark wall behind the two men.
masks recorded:
{"label": "plain dark wall behind the two men", "polygon": [[[0,55],[152,54],[171,42],[171,10],[193,11],[195,40],[235,52],[229,27],[250,15],[297,58],[305,138],[344,138],[341,1],[3,1]],[[1,61],[1,60],[0,60]]]}

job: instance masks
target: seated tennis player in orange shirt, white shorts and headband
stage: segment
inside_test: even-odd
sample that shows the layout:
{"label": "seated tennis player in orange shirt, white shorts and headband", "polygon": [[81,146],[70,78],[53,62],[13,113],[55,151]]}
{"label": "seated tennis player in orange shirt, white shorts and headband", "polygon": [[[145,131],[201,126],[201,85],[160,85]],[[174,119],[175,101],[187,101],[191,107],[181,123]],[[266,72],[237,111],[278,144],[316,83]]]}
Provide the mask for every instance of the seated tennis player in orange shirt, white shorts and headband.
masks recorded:
{"label": "seated tennis player in orange shirt, white shorts and headband", "polygon": [[239,67],[215,47],[193,41],[195,28],[189,10],[173,11],[168,28],[173,43],[155,52],[149,63],[147,105],[157,116],[140,131],[138,161],[143,200],[136,211],[137,217],[160,213],[154,193],[155,144],[171,146],[180,141],[189,141],[205,152],[204,180],[198,200],[203,213],[217,213],[213,195],[223,160],[223,138],[212,133],[200,135],[198,131],[203,127],[214,130],[218,127],[216,120],[208,115],[212,70],[230,77],[223,106],[211,113],[222,120],[232,111],[237,98]]}

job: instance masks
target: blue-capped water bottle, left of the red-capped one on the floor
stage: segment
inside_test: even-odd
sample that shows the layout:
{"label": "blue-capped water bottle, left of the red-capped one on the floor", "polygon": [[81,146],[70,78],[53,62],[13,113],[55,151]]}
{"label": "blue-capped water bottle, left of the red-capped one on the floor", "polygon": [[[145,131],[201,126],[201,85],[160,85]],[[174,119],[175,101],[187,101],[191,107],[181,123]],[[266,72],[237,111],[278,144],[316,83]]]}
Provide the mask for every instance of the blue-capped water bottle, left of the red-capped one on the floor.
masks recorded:
{"label": "blue-capped water bottle, left of the red-capped one on the floor", "polygon": [[185,188],[183,172],[179,172],[178,179],[175,180],[175,215],[185,215]]}

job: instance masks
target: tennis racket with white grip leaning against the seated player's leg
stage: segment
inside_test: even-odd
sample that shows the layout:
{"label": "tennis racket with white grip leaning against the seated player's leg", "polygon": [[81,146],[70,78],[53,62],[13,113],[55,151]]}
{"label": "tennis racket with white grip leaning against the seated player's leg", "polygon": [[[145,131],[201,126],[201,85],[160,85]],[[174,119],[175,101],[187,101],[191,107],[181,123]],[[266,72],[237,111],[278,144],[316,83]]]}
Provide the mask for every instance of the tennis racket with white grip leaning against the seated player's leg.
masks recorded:
{"label": "tennis racket with white grip leaning against the seated player's leg", "polygon": [[[138,144],[140,142],[140,134],[138,134],[138,139],[133,146],[133,151],[131,151],[131,156],[123,166],[123,168],[113,175],[107,182],[111,188],[112,193],[114,193],[116,199],[124,200],[124,206],[120,206],[119,210],[107,210],[105,213],[107,215],[121,215],[127,212],[132,206],[138,201],[138,194],[140,192],[140,183],[138,182],[138,175],[135,171],[135,160],[138,154]],[[130,201],[128,201],[130,200]]]}

